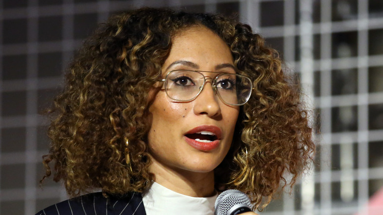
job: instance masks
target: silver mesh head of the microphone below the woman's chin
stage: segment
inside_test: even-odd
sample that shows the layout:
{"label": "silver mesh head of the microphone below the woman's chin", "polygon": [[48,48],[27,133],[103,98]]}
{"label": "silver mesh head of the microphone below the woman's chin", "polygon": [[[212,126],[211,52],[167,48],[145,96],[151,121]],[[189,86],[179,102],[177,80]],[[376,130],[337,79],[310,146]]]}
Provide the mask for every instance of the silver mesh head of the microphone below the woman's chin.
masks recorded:
{"label": "silver mesh head of the microphone below the woman's chin", "polygon": [[245,204],[250,209],[252,207],[250,199],[244,192],[237,189],[228,189],[219,194],[214,209],[216,215],[226,215],[232,207],[239,204]]}

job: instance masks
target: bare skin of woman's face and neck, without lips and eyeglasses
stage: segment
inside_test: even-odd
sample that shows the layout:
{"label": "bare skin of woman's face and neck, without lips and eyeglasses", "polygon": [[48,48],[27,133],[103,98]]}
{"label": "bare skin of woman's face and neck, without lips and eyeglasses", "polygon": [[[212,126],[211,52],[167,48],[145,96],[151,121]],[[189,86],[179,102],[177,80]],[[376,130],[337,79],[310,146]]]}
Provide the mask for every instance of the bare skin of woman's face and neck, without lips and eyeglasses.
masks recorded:
{"label": "bare skin of woman's face and neck, without lips and eyeglasses", "polygon": [[[163,78],[176,69],[235,73],[229,47],[206,27],[192,27],[174,36],[172,48],[162,67]],[[212,77],[211,73],[202,73]],[[162,186],[193,197],[215,194],[214,169],[227,154],[239,114],[239,107],[224,104],[211,81],[190,102],[177,102],[161,87],[151,89],[149,107],[152,127],[148,133],[152,162],[149,171]],[[191,129],[201,125],[220,128],[219,146],[210,151],[193,148],[185,141]]]}

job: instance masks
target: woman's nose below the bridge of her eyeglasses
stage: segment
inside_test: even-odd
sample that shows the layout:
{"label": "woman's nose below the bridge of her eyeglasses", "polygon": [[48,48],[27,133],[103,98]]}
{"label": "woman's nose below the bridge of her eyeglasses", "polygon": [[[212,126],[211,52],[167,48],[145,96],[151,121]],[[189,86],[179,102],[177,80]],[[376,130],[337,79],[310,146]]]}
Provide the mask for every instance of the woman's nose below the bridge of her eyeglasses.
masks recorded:
{"label": "woman's nose below the bridge of her eyeglasses", "polygon": [[219,98],[213,90],[211,80],[206,80],[201,93],[194,102],[194,113],[197,115],[206,114],[209,117],[216,117],[221,114]]}

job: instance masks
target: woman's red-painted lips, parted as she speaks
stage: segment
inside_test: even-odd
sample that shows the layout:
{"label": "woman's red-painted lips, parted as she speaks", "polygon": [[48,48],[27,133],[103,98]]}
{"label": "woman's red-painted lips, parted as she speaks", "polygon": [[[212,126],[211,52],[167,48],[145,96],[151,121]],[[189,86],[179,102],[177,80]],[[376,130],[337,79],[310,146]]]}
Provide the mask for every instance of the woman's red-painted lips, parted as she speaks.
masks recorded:
{"label": "woman's red-painted lips, parted as she speaks", "polygon": [[[212,142],[199,142],[186,136],[186,134],[194,134],[202,131],[212,132],[217,136],[217,139]],[[193,148],[201,151],[211,151],[219,146],[219,142],[222,137],[222,131],[217,126],[202,125],[188,131],[184,134],[184,137],[186,142]]]}

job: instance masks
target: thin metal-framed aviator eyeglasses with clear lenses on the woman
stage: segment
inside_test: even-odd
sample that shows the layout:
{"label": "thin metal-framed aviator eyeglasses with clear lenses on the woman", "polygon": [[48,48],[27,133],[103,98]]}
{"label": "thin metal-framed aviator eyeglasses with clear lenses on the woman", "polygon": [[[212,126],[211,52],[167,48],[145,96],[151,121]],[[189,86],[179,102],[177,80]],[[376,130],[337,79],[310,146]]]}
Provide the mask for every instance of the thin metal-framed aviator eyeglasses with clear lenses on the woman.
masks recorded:
{"label": "thin metal-framed aviator eyeglasses with clear lenses on the woman", "polygon": [[[212,73],[214,79],[205,77],[203,73]],[[166,74],[166,95],[176,101],[188,102],[195,99],[202,91],[207,80],[212,80],[213,90],[227,105],[241,106],[250,98],[253,89],[252,81],[246,76],[193,70],[173,70]]]}

